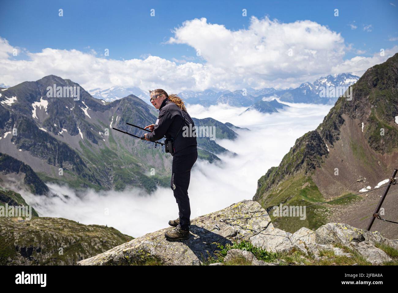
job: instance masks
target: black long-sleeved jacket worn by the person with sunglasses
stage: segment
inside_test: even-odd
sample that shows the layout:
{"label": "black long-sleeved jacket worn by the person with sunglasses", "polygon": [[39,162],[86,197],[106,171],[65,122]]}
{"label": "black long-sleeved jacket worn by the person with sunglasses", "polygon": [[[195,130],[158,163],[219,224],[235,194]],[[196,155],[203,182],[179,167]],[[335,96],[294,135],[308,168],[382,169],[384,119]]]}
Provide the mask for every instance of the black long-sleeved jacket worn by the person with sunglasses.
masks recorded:
{"label": "black long-sleeved jacket worn by the person with sunglasses", "polygon": [[[185,122],[183,116],[185,116]],[[182,124],[182,127],[181,127]],[[191,124],[191,126],[189,126]],[[186,127],[184,127],[186,126]],[[158,120],[156,120],[154,130],[146,134],[146,139],[152,142],[160,140],[163,136],[166,138],[175,138],[174,140],[174,155],[185,155],[197,151],[197,141],[195,136],[195,124],[191,116],[173,103],[170,99],[166,98],[159,108]],[[183,136],[185,128],[188,129],[188,136]],[[189,131],[192,130],[192,132]],[[186,133],[186,132],[185,132]]]}

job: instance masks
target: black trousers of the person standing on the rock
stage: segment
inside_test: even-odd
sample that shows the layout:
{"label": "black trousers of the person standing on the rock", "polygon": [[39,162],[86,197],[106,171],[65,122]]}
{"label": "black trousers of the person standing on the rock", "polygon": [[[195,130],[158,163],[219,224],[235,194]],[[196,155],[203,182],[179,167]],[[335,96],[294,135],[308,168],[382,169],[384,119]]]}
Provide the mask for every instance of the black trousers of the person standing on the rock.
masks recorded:
{"label": "black trousers of the person standing on the rock", "polygon": [[191,225],[188,186],[191,179],[191,168],[195,164],[197,157],[197,151],[173,157],[170,187],[174,192],[174,197],[178,204],[179,227],[183,230],[189,230]]}

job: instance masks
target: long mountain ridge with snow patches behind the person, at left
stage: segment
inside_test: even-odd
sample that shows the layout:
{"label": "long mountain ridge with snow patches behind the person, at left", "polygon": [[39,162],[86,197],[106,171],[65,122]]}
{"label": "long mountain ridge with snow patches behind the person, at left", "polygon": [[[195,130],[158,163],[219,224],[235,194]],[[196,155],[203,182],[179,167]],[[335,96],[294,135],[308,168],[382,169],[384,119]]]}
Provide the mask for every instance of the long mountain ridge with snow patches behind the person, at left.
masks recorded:
{"label": "long mountain ridge with snow patches behind the person, at left", "polygon": [[[61,97],[63,93],[47,97],[47,88],[54,84],[63,89],[79,87],[79,99]],[[141,136],[142,130],[126,122],[146,126],[156,118],[153,107],[134,95],[109,103],[93,98],[73,81],[46,76],[1,91],[0,147],[45,182],[96,190],[138,186],[152,191],[158,185],[169,186],[172,158],[164,148],[112,127]],[[228,132],[232,135],[233,130]],[[207,140],[199,142],[199,158],[218,159],[213,151],[226,150]]]}

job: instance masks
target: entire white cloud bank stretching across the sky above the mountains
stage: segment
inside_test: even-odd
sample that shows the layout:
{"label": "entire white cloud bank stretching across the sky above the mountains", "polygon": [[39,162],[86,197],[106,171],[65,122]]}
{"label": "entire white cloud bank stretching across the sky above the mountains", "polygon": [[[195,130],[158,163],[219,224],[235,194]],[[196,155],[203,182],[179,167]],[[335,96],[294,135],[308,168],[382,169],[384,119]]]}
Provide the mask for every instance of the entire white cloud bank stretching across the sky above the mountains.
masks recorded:
{"label": "entire white cloud bank stretching across the sky above the mountains", "polygon": [[167,60],[150,52],[142,54],[141,59],[115,60],[112,55],[100,56],[91,48],[88,52],[45,48],[41,52],[25,52],[25,60],[16,60],[11,54],[13,47],[0,37],[0,78],[3,83],[16,85],[54,74],[76,81],[86,90],[115,85],[136,86],[145,91],[167,88],[176,93],[288,88],[327,74],[355,72],[361,76],[375,62],[388,58],[344,60],[351,47],[340,33],[327,26],[310,20],[283,23],[254,16],[248,28],[236,31],[209,23],[206,18],[187,20],[174,29],[166,43],[192,47],[201,62],[194,62],[192,56]]}

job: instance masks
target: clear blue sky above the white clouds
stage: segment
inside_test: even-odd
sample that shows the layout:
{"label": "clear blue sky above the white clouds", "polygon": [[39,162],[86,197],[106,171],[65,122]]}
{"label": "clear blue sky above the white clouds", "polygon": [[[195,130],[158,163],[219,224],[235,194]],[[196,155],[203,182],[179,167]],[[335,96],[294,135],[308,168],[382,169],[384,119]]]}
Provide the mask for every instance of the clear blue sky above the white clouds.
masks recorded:
{"label": "clear blue sky above the white clouds", "polygon": [[[395,4],[392,6],[390,3]],[[64,16],[58,16],[62,8]],[[150,9],[155,9],[155,17]],[[196,57],[187,45],[163,45],[172,29],[187,19],[206,17],[210,23],[238,30],[248,16],[268,15],[283,22],[309,19],[341,33],[356,49],[371,54],[398,37],[398,1],[4,1],[0,12],[1,36],[30,52],[53,49],[98,52],[108,48],[113,58]],[[339,16],[334,16],[334,9]],[[355,22],[354,22],[355,21]],[[357,29],[351,29],[354,24]],[[363,25],[372,25],[364,31]],[[398,43],[398,40],[395,42]],[[366,53],[364,53],[366,55]],[[349,52],[346,58],[355,54]],[[197,58],[199,59],[199,58]],[[199,61],[199,60],[198,60]]]}

